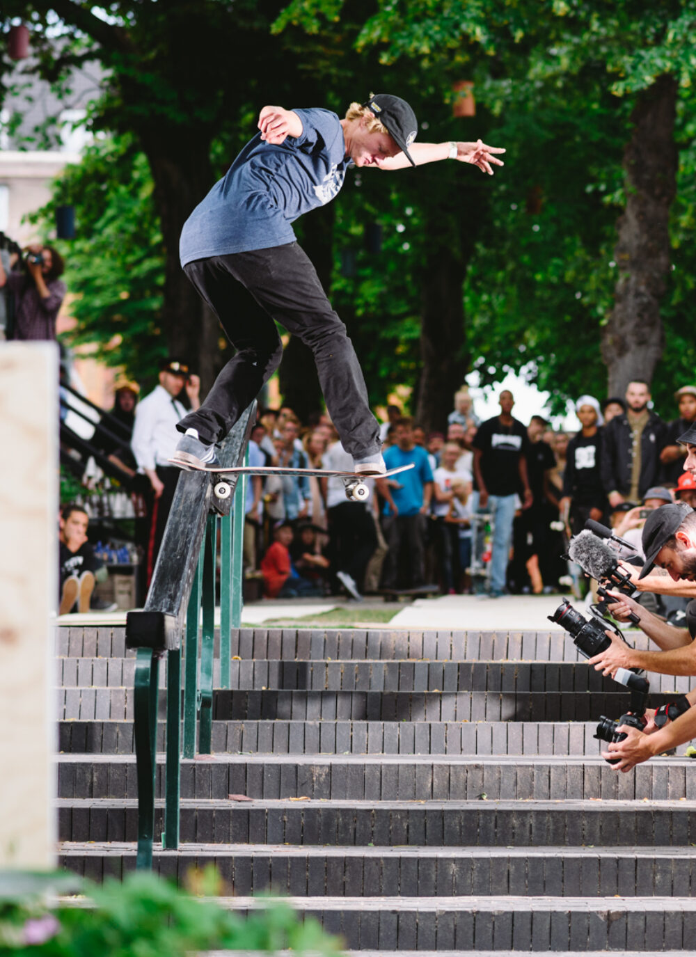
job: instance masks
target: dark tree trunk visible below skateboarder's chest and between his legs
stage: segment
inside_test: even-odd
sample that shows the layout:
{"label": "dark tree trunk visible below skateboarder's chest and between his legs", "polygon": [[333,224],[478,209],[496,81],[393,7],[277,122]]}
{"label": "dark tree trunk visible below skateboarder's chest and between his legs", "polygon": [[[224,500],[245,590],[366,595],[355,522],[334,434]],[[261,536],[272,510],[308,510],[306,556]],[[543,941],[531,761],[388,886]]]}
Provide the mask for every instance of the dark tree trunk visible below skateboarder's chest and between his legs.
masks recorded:
{"label": "dark tree trunk visible below skateboarder's chest and between his legs", "polygon": [[[336,211],[331,206],[309,213],[302,223],[302,247],[314,263],[326,295],[333,271],[333,224]],[[298,233],[300,230],[298,229]],[[311,412],[322,408],[322,389],[311,349],[297,336],[291,336],[282,356],[279,380],[283,404],[305,423]]]}

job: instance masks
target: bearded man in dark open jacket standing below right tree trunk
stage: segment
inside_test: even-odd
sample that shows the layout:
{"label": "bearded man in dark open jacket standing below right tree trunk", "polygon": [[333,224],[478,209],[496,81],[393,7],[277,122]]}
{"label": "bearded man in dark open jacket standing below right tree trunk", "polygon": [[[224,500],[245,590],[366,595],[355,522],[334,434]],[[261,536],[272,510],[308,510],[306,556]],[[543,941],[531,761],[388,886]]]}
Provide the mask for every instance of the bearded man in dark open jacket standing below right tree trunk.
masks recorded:
{"label": "bearded man in dark open jacket standing below right tree trunk", "polygon": [[664,423],[648,409],[650,389],[636,379],[626,389],[627,410],[605,427],[601,476],[612,508],[624,501],[638,503],[659,484]]}

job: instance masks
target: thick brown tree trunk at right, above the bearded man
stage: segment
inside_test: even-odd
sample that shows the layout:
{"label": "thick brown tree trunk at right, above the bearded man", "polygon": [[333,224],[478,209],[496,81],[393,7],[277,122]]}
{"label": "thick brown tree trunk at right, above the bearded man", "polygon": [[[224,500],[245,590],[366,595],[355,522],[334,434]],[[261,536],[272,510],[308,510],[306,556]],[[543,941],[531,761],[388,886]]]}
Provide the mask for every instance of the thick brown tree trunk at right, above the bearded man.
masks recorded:
{"label": "thick brown tree trunk at right, above the bearded man", "polygon": [[660,301],[670,269],[669,207],[676,192],[674,144],[677,82],[663,76],[640,94],[633,136],[623,155],[626,211],[617,222],[619,276],[614,309],[602,335],[608,394],[634,379],[650,383],[662,358]]}

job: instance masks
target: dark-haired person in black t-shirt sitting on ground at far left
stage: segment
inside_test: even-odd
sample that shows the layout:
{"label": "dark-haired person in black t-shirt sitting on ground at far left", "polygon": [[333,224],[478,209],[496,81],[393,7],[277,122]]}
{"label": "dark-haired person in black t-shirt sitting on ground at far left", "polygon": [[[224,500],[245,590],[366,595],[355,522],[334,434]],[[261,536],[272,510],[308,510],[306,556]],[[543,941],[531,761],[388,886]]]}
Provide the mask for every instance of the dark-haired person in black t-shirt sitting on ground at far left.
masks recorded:
{"label": "dark-haired person in black t-shirt sitting on ground at far left", "polygon": [[106,568],[87,541],[88,522],[79,505],[66,505],[60,515],[59,614],[69,614],[76,604],[79,612],[89,612],[95,581],[106,578]]}

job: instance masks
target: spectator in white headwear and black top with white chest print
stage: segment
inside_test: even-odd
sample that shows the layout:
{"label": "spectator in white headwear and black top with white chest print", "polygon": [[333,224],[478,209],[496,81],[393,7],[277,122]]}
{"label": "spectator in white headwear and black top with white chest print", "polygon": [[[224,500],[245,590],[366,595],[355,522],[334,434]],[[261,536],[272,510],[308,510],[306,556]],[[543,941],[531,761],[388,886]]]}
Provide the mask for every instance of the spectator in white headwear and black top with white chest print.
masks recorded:
{"label": "spectator in white headwear and black top with white chest print", "polygon": [[582,429],[568,445],[566,472],[563,477],[561,514],[567,516],[573,535],[585,527],[588,519],[605,522],[607,496],[601,478],[602,416],[599,403],[592,395],[581,395],[575,412]]}

